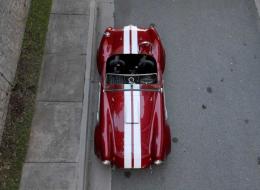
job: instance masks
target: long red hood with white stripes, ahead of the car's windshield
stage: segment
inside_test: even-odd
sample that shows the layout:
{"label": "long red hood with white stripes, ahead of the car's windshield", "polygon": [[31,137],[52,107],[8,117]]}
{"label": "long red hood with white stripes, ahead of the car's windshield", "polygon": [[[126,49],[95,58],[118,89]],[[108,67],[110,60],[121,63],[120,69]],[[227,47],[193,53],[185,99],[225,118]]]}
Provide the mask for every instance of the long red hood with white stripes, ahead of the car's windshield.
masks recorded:
{"label": "long red hood with white stripes, ahead of the car's windshield", "polygon": [[155,106],[159,91],[138,85],[106,92],[112,120],[114,158],[124,168],[142,168],[151,160]]}

